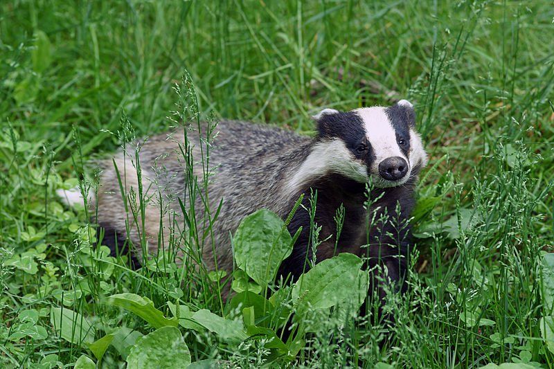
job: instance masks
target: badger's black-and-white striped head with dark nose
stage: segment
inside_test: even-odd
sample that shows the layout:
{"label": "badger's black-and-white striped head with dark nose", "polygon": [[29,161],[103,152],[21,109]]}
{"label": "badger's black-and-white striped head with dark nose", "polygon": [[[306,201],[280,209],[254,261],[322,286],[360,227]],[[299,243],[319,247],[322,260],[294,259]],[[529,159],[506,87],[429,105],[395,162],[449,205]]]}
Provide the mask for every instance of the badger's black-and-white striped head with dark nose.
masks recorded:
{"label": "badger's black-and-white striped head with dark nose", "polygon": [[334,172],[361,183],[371,180],[379,188],[395,187],[427,164],[415,132],[413,105],[407,100],[347,112],[323,109],[313,118],[316,143],[296,179]]}

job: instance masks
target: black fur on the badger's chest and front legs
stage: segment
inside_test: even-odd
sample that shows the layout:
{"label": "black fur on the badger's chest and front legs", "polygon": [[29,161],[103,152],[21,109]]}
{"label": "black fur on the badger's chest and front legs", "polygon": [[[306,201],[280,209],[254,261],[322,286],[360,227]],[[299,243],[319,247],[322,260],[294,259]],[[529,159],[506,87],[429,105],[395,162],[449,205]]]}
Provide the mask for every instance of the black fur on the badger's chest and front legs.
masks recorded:
{"label": "black fur on the badger's chest and front legs", "polygon": [[[375,267],[388,269],[388,278],[396,289],[405,290],[405,276],[409,265],[410,227],[408,219],[414,205],[413,181],[401,187],[379,188],[370,192],[371,199],[377,201],[369,211],[364,209],[366,201],[366,186],[347,179],[339,174],[330,174],[323,179],[310,183],[303,192],[303,208],[299,208],[289,224],[290,233],[302,226],[303,231],[294,246],[292,254],[283,262],[280,275],[286,277],[292,274],[295,280],[304,271],[310,269],[312,248],[310,238],[310,194],[317,192],[316,215],[314,222],[321,226],[320,240],[323,242],[316,251],[317,260],[321,261],[342,252],[355,253],[366,260],[366,268]],[[343,204],[345,216],[343,228],[337,249],[334,249],[336,227],[334,215],[337,208]],[[397,208],[400,213],[397,213]],[[366,215],[373,217],[375,222],[366,233]],[[381,276],[383,277],[383,276]],[[383,277],[384,278],[384,277]],[[382,282],[372,278],[371,288],[377,290],[379,298],[385,297]]]}

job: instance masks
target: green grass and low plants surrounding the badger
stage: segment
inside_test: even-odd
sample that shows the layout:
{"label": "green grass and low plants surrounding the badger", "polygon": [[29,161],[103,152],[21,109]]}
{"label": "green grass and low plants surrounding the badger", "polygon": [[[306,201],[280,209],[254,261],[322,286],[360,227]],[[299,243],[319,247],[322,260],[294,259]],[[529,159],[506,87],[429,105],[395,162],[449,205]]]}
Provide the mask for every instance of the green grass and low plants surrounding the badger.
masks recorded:
{"label": "green grass and low plants surrounding the badger", "polygon": [[[54,193],[117,149],[123,113],[138,137],[168,129],[185,70],[200,118],[305,133],[321,107],[409,98],[430,154],[413,222],[417,273],[390,304],[393,339],[379,348],[378,326],[335,316],[316,323],[296,359],[271,365],[554,366],[539,325],[551,315],[542,255],[554,244],[553,19],[546,0],[2,1],[0,366],[93,357],[60,339],[57,307],[85,316],[93,339],[123,326],[152,332],[106,305],[111,294],[148,297],[166,316],[168,301],[222,314],[205,275],[179,296],[170,273],[135,273],[99,250],[103,261],[87,262],[87,216]],[[235,350],[181,333],[193,361],[267,359],[252,342]],[[125,362],[113,346],[102,360]]]}

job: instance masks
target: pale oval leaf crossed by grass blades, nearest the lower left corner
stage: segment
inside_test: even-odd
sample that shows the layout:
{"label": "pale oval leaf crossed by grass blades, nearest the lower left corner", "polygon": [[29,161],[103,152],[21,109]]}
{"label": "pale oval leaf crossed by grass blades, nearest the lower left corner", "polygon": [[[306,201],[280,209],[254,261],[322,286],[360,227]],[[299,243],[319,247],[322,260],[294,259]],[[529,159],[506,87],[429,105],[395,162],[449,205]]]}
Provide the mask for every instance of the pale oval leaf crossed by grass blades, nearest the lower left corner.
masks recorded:
{"label": "pale oval leaf crossed by grass blades, nearest the lower left corner", "polygon": [[53,307],[50,321],[62,339],[87,347],[94,341],[94,329],[84,316],[70,309]]}

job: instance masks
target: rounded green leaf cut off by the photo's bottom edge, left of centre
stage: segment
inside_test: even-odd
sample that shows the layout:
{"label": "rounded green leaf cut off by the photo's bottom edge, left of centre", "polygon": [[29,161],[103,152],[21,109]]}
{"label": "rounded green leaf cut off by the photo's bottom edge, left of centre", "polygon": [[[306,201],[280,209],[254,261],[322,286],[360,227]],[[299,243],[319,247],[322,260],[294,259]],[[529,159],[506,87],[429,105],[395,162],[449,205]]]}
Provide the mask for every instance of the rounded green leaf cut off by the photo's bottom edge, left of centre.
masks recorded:
{"label": "rounded green leaf cut off by the photo's bottom edge, left of centre", "polygon": [[186,368],[190,352],[176,327],[161,327],[141,339],[127,357],[127,369]]}

